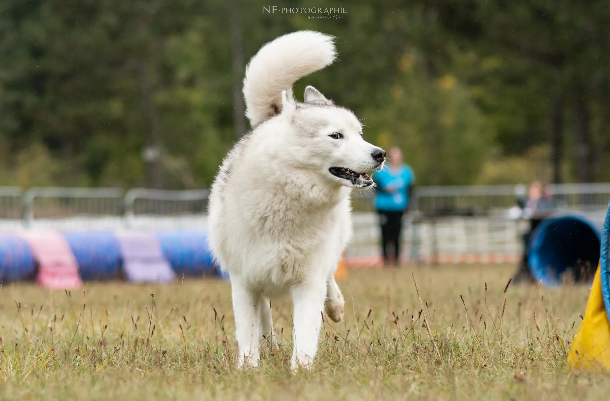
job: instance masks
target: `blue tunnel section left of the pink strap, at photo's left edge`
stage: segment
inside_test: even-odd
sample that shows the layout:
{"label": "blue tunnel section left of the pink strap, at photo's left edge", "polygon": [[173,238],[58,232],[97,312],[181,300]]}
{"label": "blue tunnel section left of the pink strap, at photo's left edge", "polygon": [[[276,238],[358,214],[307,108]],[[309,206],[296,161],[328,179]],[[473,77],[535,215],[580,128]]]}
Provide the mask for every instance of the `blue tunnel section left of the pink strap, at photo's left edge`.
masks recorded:
{"label": "blue tunnel section left of the pink strap, at photo's left edge", "polygon": [[0,282],[31,280],[36,274],[36,260],[22,238],[0,236]]}

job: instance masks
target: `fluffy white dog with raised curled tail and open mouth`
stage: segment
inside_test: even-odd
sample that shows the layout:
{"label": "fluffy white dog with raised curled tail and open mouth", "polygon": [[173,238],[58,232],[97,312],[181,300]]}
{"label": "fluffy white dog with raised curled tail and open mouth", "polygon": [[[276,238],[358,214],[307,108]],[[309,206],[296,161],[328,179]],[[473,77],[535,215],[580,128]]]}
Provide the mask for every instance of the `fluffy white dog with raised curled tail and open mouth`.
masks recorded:
{"label": "fluffy white dog with raised curled tail and open mouth", "polygon": [[257,366],[260,347],[275,343],[270,299],[294,303],[291,366],[310,367],[321,313],[343,319],[334,280],[351,237],[352,188],[373,185],[385,152],[362,138],[359,119],[313,87],[304,102],[293,83],[331,64],[333,38],[300,31],[266,44],[243,81],[254,129],[224,159],[209,200],[209,241],[229,272],[238,366]]}

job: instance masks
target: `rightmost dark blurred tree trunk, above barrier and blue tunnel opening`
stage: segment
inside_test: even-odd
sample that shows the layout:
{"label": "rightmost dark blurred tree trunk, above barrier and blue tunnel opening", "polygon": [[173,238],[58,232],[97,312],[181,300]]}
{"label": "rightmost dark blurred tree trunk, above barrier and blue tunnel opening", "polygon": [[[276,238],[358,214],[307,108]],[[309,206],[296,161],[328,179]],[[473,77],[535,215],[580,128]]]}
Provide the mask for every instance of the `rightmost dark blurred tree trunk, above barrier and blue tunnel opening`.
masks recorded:
{"label": "rightmost dark blurred tree trunk, above barrier and blue tunnel opening", "polygon": [[578,180],[591,182],[591,147],[590,147],[590,113],[587,99],[581,90],[576,91],[576,165],[578,166]]}

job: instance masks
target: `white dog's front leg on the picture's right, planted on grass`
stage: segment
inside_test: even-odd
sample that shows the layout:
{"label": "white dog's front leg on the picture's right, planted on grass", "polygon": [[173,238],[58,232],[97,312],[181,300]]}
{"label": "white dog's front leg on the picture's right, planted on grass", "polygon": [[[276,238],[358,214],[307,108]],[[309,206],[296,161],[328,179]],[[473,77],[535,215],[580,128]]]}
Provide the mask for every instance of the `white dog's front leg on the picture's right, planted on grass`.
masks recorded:
{"label": "white dog's front leg on the picture's right, planted on grass", "polygon": [[302,283],[292,290],[294,303],[293,316],[293,351],[290,367],[296,371],[299,367],[309,369],[318,349],[318,336],[324,300],[326,282]]}

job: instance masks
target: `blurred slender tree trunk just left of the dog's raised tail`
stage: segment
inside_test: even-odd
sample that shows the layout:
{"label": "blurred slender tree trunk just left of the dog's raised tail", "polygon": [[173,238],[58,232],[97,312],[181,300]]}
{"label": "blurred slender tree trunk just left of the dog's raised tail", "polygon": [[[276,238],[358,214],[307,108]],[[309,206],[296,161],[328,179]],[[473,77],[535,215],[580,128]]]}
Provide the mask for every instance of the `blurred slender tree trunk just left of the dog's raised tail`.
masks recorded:
{"label": "blurred slender tree trunk just left of the dog's raised tail", "polygon": [[242,27],[239,21],[239,8],[235,4],[230,6],[229,21],[231,26],[232,45],[233,124],[235,129],[235,140],[239,140],[246,133],[246,121],[244,119],[245,104],[242,95],[242,79],[244,73]]}

